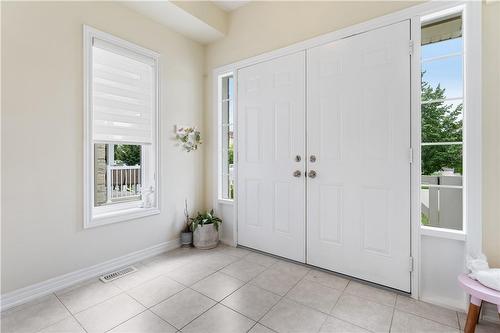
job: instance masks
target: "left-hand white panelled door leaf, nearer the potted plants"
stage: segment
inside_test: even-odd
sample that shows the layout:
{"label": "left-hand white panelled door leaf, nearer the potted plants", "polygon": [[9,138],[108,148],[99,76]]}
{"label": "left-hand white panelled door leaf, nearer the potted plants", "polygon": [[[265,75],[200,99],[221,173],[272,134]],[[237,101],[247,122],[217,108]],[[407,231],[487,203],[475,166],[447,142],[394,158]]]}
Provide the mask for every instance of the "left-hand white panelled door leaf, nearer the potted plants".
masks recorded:
{"label": "left-hand white panelled door leaf, nearer the potted plants", "polygon": [[238,119],[238,243],[304,262],[305,52],[240,69]]}

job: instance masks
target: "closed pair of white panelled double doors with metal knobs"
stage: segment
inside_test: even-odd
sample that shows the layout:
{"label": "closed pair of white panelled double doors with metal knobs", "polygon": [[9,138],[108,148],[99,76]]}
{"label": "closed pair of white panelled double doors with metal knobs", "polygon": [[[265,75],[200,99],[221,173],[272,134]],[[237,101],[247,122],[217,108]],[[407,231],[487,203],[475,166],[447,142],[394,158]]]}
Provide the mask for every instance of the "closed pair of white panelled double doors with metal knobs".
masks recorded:
{"label": "closed pair of white panelled double doors with metal knobs", "polygon": [[239,244],[410,291],[409,31],[238,71]]}

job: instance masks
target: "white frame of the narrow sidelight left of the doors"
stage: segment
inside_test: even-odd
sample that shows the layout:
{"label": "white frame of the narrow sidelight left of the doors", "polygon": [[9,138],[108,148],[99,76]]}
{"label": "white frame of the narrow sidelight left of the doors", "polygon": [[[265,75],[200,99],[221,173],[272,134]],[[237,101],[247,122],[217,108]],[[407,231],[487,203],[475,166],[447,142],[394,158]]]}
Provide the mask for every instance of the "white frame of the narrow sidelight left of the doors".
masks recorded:
{"label": "white frame of the narrow sidelight left of the doors", "polygon": [[[234,75],[234,72],[227,72],[227,73],[223,73],[223,74],[220,74],[220,75],[217,75],[216,79],[217,79],[217,84],[216,84],[216,89],[217,89],[217,98],[216,98],[216,103],[217,103],[217,200],[220,202],[220,203],[227,203],[227,204],[231,204],[234,202],[234,198],[236,196],[236,138],[233,137],[233,142],[234,142],[234,145],[233,145],[233,168],[234,168],[234,173],[233,173],[233,177],[234,177],[234,194],[233,194],[233,198],[224,198],[224,178],[225,177],[228,177],[229,175],[226,174],[224,172],[224,161],[223,161],[223,158],[224,158],[224,151],[223,151],[223,136],[224,136],[224,131],[223,131],[223,127],[226,126],[226,124],[223,123],[223,116],[222,116],[222,111],[223,111],[223,108],[222,108],[222,103],[224,102],[222,100],[222,80],[226,77],[229,77],[229,76],[232,76],[233,78],[233,96],[232,96],[232,102],[233,102],[233,123],[231,124],[233,126],[233,136],[235,135],[236,133],[236,130],[235,130],[235,109],[236,109],[236,106],[235,106],[235,102],[236,102],[236,98],[235,98],[235,94],[236,94],[236,77]],[[229,84],[228,84],[228,90],[229,90]]]}

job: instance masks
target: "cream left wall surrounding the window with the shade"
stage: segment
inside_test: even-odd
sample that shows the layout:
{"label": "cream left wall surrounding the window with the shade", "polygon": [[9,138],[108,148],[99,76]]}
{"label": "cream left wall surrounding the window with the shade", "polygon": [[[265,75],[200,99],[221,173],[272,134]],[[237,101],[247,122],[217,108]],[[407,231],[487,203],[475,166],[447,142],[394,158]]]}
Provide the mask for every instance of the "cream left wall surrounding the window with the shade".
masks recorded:
{"label": "cream left wall surrounding the window with the shade", "polygon": [[[178,237],[203,205],[204,49],[111,2],[2,2],[2,294]],[[161,214],[82,230],[82,25],[161,53]]]}

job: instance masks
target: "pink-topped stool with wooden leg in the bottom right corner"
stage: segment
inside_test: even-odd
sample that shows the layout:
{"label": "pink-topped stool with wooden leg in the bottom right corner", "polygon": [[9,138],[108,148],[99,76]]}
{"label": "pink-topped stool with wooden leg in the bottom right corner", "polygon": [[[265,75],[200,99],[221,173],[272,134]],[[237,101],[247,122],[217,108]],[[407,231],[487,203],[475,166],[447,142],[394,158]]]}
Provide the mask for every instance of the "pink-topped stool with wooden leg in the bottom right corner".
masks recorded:
{"label": "pink-topped stool with wooden leg in the bottom right corner", "polygon": [[474,333],[483,301],[496,304],[498,316],[500,317],[500,291],[485,287],[476,280],[468,277],[466,274],[460,274],[458,282],[465,292],[470,295],[469,312],[467,313],[467,323],[465,324],[464,330],[465,333]]}

